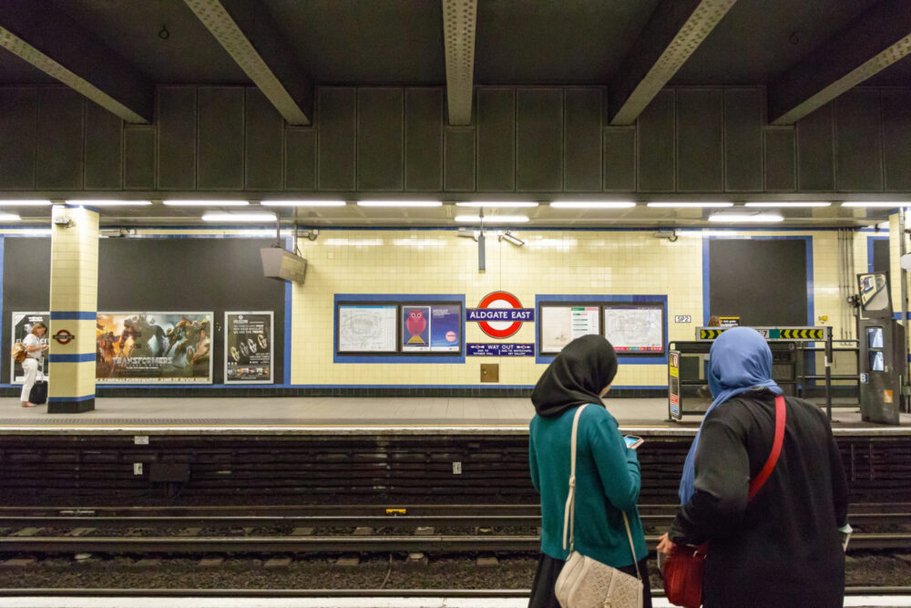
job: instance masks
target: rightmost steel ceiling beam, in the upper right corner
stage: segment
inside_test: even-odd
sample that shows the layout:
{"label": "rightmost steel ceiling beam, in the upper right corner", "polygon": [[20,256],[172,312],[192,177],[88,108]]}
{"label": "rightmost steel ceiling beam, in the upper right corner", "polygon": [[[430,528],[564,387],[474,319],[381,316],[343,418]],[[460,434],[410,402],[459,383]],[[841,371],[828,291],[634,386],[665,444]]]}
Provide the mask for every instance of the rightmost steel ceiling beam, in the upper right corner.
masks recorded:
{"label": "rightmost steel ceiling beam, in the upper right corner", "polygon": [[773,125],[793,125],[911,53],[911,2],[880,0],[769,86]]}

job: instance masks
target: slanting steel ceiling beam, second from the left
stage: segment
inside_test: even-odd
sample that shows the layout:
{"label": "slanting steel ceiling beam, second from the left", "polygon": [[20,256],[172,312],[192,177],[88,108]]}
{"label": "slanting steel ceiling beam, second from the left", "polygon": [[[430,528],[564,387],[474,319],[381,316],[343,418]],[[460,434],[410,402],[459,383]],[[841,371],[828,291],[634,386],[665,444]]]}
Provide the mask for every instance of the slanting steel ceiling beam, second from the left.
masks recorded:
{"label": "slanting steel ceiling beam, second from the left", "polygon": [[261,3],[184,1],[289,124],[311,124],[312,80]]}

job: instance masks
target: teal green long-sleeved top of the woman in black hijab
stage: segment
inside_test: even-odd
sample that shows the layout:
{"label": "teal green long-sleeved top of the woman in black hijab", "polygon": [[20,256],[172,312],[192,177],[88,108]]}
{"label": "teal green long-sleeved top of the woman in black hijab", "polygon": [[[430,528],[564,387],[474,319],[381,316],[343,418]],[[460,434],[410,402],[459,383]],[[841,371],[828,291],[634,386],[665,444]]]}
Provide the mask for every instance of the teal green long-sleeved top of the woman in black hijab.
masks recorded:
{"label": "teal green long-sleeved top of the woman in black hijab", "polygon": [[[541,551],[566,560],[563,510],[569,493],[569,439],[576,407],[558,418],[536,416],[529,426],[531,481],[541,494]],[[636,561],[647,554],[639,499],[640,469],[636,451],[626,447],[617,420],[607,409],[589,405],[578,421],[576,456],[575,549],[621,568],[632,564],[621,510],[630,520]]]}

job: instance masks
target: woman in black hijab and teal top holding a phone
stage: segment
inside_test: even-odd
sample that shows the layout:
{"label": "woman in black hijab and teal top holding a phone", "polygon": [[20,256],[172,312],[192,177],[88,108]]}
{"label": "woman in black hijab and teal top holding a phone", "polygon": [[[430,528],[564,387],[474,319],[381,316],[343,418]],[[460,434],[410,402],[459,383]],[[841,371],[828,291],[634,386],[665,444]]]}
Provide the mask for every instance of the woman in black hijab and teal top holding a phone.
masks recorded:
{"label": "woman in black hijab and teal top holding a phone", "polygon": [[[617,420],[601,397],[617,376],[617,356],[599,335],[570,342],[537,381],[529,426],[531,481],[541,495],[541,558],[529,608],[559,608],[554,595],[569,551],[563,548],[563,515],[568,497],[570,436],[580,406],[576,461],[575,549],[644,582],[643,606],[651,607],[647,549],[636,501],[640,471],[635,450],[626,447]],[[636,556],[630,550],[623,513],[630,520]]]}

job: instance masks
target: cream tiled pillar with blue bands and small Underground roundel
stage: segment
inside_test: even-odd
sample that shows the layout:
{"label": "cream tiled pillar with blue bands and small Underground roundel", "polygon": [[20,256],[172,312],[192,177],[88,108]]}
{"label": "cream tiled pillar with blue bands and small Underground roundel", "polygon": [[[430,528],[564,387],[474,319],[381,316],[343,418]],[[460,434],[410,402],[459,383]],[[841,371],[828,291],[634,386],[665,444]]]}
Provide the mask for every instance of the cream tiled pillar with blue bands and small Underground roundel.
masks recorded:
{"label": "cream tiled pillar with blue bands and small Underground roundel", "polygon": [[[47,412],[95,409],[98,213],[55,205],[51,224],[51,325]],[[67,334],[74,337],[67,341]]]}

